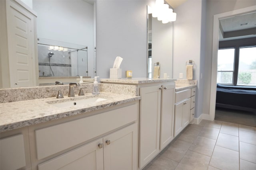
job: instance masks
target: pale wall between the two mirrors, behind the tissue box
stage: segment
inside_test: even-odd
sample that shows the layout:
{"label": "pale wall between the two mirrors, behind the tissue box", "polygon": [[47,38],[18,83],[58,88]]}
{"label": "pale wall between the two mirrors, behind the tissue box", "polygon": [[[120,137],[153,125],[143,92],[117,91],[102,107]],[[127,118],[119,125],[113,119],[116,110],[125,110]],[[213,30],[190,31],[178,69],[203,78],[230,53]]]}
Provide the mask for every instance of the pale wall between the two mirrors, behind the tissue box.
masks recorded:
{"label": "pale wall between the two mirrors, behind the tissue box", "polygon": [[97,75],[109,78],[116,56],[123,58],[122,77],[147,77],[147,5],[154,0],[97,0]]}

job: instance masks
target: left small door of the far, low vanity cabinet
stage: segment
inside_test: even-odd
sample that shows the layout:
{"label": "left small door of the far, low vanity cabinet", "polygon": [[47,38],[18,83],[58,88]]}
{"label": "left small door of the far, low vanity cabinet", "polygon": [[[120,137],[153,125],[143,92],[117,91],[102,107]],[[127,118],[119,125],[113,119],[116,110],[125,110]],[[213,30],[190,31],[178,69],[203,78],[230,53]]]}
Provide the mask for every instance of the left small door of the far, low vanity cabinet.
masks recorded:
{"label": "left small door of the far, low vanity cabinet", "polygon": [[182,110],[184,102],[175,105],[174,136],[182,131]]}

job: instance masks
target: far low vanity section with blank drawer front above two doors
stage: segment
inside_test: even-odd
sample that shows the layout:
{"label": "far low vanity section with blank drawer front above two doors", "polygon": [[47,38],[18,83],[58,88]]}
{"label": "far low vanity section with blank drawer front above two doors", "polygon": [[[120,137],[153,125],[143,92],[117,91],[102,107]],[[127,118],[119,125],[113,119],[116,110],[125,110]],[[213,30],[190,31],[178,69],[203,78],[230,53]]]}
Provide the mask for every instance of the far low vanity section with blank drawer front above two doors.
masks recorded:
{"label": "far low vanity section with blank drawer front above two doors", "polygon": [[190,122],[190,96],[191,89],[175,93],[175,125],[174,136],[176,137]]}

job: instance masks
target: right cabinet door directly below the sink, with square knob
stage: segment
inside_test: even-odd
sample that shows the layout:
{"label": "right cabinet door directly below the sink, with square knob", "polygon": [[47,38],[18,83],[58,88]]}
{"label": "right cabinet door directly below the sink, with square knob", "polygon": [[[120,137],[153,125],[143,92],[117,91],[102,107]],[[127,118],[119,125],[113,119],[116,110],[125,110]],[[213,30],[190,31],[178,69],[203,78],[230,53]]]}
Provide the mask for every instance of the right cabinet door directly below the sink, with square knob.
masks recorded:
{"label": "right cabinet door directly below the sink, with square knob", "polygon": [[104,170],[137,169],[137,123],[103,138]]}

